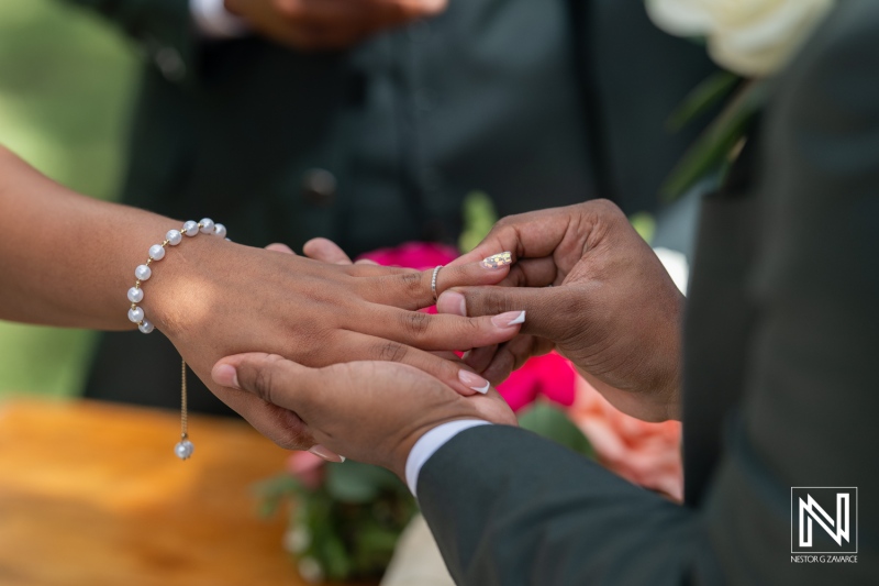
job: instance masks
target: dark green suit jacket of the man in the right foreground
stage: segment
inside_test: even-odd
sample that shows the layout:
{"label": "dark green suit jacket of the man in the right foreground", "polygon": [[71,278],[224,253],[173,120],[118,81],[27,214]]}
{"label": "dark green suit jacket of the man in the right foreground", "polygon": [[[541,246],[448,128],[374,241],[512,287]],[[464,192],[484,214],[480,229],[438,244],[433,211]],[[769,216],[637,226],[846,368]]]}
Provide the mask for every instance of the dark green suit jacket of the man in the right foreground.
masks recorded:
{"label": "dark green suit jacket of the man in the right foreground", "polygon": [[[465,431],[418,485],[458,584],[879,584],[877,40],[879,4],[841,2],[703,203],[686,504],[522,430]],[[857,563],[794,557],[792,487],[857,487]]]}

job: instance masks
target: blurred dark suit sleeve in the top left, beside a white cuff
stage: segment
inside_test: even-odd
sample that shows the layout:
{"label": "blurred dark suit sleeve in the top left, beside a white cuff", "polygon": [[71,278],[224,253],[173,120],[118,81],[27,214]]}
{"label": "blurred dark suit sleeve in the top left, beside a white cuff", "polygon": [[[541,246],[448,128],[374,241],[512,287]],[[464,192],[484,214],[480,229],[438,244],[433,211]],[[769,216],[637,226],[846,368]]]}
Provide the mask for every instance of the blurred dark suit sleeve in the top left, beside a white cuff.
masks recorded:
{"label": "blurred dark suit sleeve in the top left, beside a white cuff", "polygon": [[66,0],[101,13],[141,44],[169,80],[193,77],[198,41],[189,0]]}

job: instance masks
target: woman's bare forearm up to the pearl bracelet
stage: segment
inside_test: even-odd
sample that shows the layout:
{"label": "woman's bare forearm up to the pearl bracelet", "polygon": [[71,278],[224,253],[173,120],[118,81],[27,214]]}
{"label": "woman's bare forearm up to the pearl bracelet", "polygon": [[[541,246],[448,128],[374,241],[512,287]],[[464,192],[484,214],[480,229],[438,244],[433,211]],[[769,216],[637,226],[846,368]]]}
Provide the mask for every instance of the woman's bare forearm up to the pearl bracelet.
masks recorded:
{"label": "woman's bare forearm up to the pearl bracelet", "polygon": [[62,327],[134,328],[134,268],[180,225],[70,191],[2,147],[0,210],[0,319]]}

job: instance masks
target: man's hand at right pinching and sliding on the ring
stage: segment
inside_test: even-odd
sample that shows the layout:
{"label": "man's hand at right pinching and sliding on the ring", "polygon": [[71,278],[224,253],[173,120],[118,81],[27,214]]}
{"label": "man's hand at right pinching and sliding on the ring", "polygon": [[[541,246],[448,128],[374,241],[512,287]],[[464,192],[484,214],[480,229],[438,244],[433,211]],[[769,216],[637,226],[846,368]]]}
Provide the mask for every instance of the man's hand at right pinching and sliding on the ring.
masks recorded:
{"label": "man's hand at right pinching and sliding on the ring", "polygon": [[596,200],[504,218],[450,266],[498,250],[514,256],[504,287],[454,288],[437,308],[458,316],[522,308],[525,335],[475,350],[467,364],[497,384],[555,346],[620,410],[649,421],[679,417],[683,297],[616,206]]}

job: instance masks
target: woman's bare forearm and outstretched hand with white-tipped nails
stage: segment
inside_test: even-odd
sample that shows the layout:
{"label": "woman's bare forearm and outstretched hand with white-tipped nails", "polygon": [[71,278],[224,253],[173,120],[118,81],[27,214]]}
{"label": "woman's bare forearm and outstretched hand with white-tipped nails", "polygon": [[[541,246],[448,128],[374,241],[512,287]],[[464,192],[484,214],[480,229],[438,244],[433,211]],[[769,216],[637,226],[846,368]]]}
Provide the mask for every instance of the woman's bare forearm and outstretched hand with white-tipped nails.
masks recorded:
{"label": "woman's bare forearm and outstretched hand with white-tipped nails", "polygon": [[[134,267],[146,261],[149,245],[182,224],[74,194],[2,148],[0,210],[0,319],[76,328],[133,329],[125,291],[134,285]],[[497,343],[519,332],[507,325],[509,317],[413,311],[433,302],[430,273],[324,264],[204,234],[169,246],[152,268],[140,303],[146,317],[221,400],[291,449],[314,443],[300,419],[211,383],[219,358],[260,349],[315,367],[393,361],[471,395],[474,385],[458,378],[463,365],[431,351]],[[437,288],[497,283],[505,274],[470,264],[446,272]]]}

